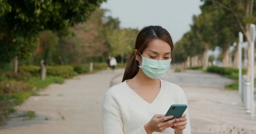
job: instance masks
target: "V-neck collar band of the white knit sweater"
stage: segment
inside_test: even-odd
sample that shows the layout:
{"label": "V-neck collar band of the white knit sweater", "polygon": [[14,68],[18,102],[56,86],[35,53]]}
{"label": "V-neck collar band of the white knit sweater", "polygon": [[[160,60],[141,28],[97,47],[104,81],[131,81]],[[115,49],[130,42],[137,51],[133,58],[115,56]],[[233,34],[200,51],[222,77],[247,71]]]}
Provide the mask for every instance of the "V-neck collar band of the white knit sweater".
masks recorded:
{"label": "V-neck collar band of the white knit sweater", "polygon": [[[128,80],[126,80],[128,81]],[[136,92],[134,92],[133,89],[131,89],[128,84],[124,81],[123,83],[127,87],[128,95],[131,96],[137,103],[139,103],[141,106],[143,106],[145,109],[147,109],[149,112],[154,112],[160,108],[160,106],[163,104],[163,102],[166,100],[166,91],[167,91],[167,86],[166,82],[160,79],[160,92],[158,93],[157,97],[153,100],[153,102],[148,103],[146,100],[140,97]]]}

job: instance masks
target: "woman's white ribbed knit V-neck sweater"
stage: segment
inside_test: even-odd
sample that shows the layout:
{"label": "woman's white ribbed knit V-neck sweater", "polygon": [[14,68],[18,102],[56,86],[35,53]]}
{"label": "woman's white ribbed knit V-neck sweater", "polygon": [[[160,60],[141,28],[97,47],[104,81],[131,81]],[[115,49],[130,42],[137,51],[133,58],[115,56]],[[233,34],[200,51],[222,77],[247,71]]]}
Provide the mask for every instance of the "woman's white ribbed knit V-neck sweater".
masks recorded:
{"label": "woman's white ribbed knit V-neck sweater", "polygon": [[[108,89],[105,93],[102,112],[105,134],[146,134],[144,125],[154,114],[166,114],[172,104],[187,104],[186,95],[179,86],[160,79],[161,89],[157,98],[148,103],[135,93],[126,81]],[[189,112],[183,134],[191,134]],[[175,134],[174,129],[166,128],[163,133]]]}

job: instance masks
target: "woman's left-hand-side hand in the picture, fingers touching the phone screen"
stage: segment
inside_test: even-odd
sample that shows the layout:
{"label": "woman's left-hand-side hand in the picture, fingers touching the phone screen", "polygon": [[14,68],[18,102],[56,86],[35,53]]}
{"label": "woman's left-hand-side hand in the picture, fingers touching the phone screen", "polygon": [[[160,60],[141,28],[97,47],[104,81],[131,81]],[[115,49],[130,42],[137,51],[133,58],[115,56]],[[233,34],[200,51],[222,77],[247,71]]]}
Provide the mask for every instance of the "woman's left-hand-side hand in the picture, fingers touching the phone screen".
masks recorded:
{"label": "woman's left-hand-side hand in the picture, fingers touching the phone screen", "polygon": [[173,116],[164,117],[163,114],[155,114],[154,117],[144,126],[147,134],[152,134],[153,132],[164,132],[166,128],[173,127],[176,119],[172,119],[166,122],[165,120],[171,119]]}

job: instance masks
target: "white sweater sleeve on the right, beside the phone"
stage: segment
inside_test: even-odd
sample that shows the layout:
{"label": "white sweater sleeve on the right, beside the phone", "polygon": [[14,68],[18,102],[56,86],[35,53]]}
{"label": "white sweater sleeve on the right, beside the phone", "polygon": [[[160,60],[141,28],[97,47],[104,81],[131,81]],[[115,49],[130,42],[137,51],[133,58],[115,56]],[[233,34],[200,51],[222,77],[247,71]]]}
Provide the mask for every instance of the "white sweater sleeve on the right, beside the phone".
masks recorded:
{"label": "white sweater sleeve on the right, beside the phone", "polygon": [[[186,94],[185,94],[184,91],[182,92],[181,96],[182,96],[181,97],[181,103],[188,105],[188,101],[187,101]],[[187,125],[186,125],[186,128],[183,130],[183,134],[191,134],[190,120],[189,120],[189,110],[188,109],[189,108],[187,108],[184,112],[186,114],[186,118],[187,118]]]}

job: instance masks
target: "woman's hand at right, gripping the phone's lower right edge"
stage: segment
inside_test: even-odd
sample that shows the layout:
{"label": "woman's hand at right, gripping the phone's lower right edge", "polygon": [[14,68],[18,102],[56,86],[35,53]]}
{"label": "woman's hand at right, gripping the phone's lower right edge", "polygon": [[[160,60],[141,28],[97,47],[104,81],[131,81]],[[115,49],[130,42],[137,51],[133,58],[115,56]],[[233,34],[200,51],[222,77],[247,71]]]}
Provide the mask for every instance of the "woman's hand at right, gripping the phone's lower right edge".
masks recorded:
{"label": "woman's hand at right, gripping the phone's lower right edge", "polygon": [[174,126],[171,128],[175,130],[175,134],[182,134],[183,130],[186,128],[187,118],[186,114],[183,114],[180,118],[176,119]]}

